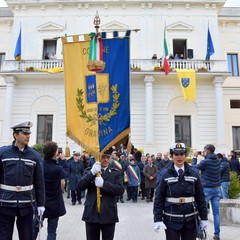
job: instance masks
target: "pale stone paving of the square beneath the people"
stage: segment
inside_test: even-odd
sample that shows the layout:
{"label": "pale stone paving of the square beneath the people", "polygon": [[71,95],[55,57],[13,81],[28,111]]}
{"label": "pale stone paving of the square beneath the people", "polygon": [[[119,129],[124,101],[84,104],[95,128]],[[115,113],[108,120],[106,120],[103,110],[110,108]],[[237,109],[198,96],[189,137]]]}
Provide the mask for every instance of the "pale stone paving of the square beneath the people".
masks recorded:
{"label": "pale stone paving of the square beneath the people", "polygon": [[[66,194],[65,194],[66,196]],[[126,197],[125,197],[126,199]],[[85,199],[83,199],[84,202]],[[86,240],[85,224],[81,220],[84,205],[71,205],[65,198],[67,214],[60,218],[57,229],[57,240]],[[120,222],[116,224],[114,240],[164,240],[165,233],[153,231],[153,204],[138,200],[138,203],[127,202],[118,204]],[[213,224],[209,222],[209,239],[213,239]],[[47,239],[47,220],[41,230],[40,240]],[[1,237],[0,237],[1,239]],[[13,240],[18,236],[14,232]],[[221,240],[240,239],[240,226],[221,226]],[[173,239],[174,240],[174,239]]]}

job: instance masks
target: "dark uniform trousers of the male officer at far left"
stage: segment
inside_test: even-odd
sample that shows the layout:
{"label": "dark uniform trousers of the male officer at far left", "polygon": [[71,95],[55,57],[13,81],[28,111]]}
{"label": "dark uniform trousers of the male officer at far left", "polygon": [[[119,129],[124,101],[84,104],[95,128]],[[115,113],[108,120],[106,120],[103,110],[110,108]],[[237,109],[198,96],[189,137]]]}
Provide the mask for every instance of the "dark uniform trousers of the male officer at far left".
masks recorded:
{"label": "dark uniform trousers of the male officer at far left", "polygon": [[16,217],[19,240],[32,240],[33,215],[20,216],[20,213],[17,216],[0,214],[0,239],[12,240]]}

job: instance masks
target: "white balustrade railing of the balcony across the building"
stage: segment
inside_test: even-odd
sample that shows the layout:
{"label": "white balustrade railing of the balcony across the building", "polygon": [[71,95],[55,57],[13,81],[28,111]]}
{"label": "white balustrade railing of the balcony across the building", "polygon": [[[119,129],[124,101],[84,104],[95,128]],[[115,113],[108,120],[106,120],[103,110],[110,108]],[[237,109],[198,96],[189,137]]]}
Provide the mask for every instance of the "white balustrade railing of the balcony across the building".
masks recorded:
{"label": "white balustrade railing of the balcony across the building", "polygon": [[[164,71],[160,68],[161,60],[158,59],[131,59],[131,72],[154,72]],[[197,72],[208,73],[228,73],[227,61],[225,60],[169,60],[171,70],[175,69],[194,69]],[[41,72],[42,69],[50,69],[55,67],[63,67],[63,60],[6,60],[1,66],[0,74],[24,73],[28,71]],[[158,68],[157,68],[158,67]]]}

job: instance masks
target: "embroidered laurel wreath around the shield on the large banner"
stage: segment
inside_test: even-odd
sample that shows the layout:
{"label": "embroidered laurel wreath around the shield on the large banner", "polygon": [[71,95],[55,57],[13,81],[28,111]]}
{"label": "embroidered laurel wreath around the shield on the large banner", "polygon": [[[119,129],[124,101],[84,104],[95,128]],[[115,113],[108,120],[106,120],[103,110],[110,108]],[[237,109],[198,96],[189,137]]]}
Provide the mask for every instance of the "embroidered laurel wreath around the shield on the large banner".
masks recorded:
{"label": "embroidered laurel wreath around the shield on the large banner", "polygon": [[112,96],[113,96],[113,104],[112,107],[110,109],[110,111],[104,115],[102,114],[87,114],[87,112],[84,110],[84,104],[83,104],[83,93],[84,91],[82,89],[77,89],[77,97],[76,97],[76,101],[77,101],[77,107],[78,110],[80,112],[80,117],[85,119],[86,122],[91,123],[91,126],[96,124],[97,122],[99,122],[100,125],[104,124],[105,122],[110,122],[111,117],[117,115],[117,109],[120,106],[119,103],[119,97],[120,97],[120,93],[118,93],[117,91],[117,84],[112,85],[111,87],[111,91],[112,91]]}

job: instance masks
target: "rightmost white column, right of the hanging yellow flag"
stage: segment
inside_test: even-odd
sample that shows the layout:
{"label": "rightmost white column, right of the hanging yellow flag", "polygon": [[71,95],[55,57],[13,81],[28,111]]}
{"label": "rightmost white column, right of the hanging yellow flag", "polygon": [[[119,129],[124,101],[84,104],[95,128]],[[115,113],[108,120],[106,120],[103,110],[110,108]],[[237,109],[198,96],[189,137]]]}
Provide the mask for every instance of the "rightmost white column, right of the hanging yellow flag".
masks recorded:
{"label": "rightmost white column, right of the hanging yellow flag", "polygon": [[224,106],[223,106],[223,91],[222,84],[224,79],[222,76],[215,76],[213,84],[215,85],[215,98],[216,98],[216,150],[218,152],[226,151],[225,141],[225,126],[224,126]]}

